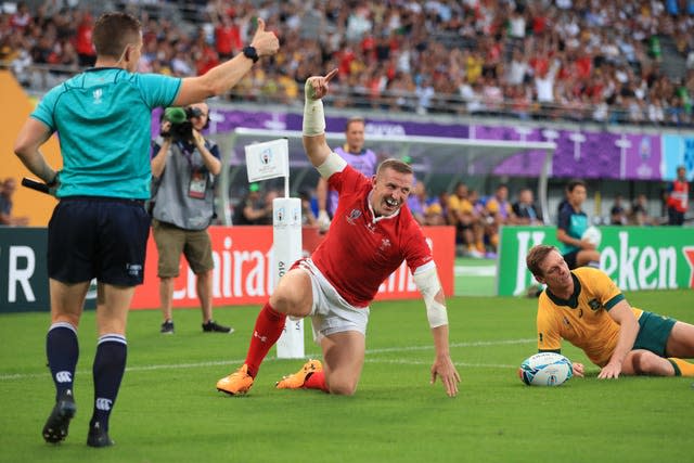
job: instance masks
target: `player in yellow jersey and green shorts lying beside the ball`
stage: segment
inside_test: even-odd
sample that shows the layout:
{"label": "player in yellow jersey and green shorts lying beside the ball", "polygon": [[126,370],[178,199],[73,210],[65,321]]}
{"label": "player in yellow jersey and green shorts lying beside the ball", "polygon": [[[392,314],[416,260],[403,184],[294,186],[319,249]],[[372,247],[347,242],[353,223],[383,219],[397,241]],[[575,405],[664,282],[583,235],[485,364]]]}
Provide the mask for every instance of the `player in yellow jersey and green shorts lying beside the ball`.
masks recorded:
{"label": "player in yellow jersey and green shorts lying beside the ball", "polygon": [[[554,246],[530,249],[535,279],[547,285],[538,301],[538,350],[560,352],[562,339],[601,368],[599,378],[626,375],[694,376],[694,325],[631,307],[605,272],[569,270]],[[583,376],[583,365],[574,363]]]}

